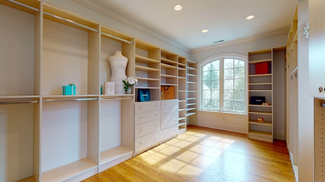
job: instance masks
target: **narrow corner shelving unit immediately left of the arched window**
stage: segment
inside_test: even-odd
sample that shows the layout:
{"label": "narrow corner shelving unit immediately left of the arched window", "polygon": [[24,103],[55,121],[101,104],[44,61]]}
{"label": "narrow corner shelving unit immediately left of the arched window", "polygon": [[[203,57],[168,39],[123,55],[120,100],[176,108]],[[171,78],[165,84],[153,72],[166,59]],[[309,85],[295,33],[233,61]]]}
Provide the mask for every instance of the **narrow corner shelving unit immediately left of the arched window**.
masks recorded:
{"label": "narrow corner shelving unit immediately left of the arched window", "polygon": [[186,61],[186,116],[187,124],[197,124],[198,121],[198,64]]}

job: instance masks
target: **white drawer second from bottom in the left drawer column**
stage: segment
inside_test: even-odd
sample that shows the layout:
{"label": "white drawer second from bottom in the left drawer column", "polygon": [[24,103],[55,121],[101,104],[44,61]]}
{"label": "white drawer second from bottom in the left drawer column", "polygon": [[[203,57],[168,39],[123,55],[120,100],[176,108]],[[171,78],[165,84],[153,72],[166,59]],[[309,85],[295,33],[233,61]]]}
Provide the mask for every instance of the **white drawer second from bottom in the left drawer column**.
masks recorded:
{"label": "white drawer second from bottom in the left drawer column", "polygon": [[135,127],[135,137],[139,138],[140,136],[144,136],[146,134],[160,130],[160,120],[148,121],[148,122],[136,124],[134,127]]}

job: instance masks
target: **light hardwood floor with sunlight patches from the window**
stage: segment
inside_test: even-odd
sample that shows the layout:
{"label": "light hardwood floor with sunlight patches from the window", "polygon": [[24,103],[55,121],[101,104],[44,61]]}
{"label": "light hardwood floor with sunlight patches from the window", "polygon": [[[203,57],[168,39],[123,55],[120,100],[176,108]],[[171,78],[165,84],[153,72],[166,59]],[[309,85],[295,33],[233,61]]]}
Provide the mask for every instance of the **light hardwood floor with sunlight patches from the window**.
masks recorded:
{"label": "light hardwood floor with sunlight patches from the window", "polygon": [[295,181],[284,141],[192,126],[160,146],[84,180]]}

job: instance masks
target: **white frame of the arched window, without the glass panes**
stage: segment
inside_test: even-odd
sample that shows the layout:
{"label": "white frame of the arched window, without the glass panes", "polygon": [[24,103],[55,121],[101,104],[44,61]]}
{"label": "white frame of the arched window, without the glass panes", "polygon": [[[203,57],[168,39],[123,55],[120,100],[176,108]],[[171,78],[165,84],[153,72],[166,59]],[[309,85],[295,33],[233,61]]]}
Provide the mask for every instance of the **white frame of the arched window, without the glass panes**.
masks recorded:
{"label": "white frame of the arched window, without the glass panes", "polygon": [[[224,110],[223,109],[223,92],[224,92],[224,78],[223,78],[223,74],[224,74],[224,64],[223,64],[223,60],[224,59],[236,59],[236,60],[240,60],[240,61],[244,61],[244,70],[245,70],[245,110],[243,112],[239,112],[239,111],[229,111],[229,110]],[[220,84],[220,88],[219,88],[219,109],[203,109],[202,108],[202,90],[203,90],[203,66],[207,65],[208,63],[211,63],[213,61],[216,60],[220,60],[220,68],[219,68],[219,76],[222,78],[219,78],[219,84]],[[222,113],[230,113],[230,114],[247,114],[247,110],[248,110],[248,59],[247,59],[247,55],[241,55],[241,54],[234,54],[234,53],[229,53],[229,54],[217,54],[217,55],[213,55],[211,57],[208,57],[206,59],[204,59],[203,61],[201,61],[198,64],[198,77],[199,77],[199,81],[200,84],[198,84],[198,108],[200,111],[211,111],[211,112],[222,112]]]}

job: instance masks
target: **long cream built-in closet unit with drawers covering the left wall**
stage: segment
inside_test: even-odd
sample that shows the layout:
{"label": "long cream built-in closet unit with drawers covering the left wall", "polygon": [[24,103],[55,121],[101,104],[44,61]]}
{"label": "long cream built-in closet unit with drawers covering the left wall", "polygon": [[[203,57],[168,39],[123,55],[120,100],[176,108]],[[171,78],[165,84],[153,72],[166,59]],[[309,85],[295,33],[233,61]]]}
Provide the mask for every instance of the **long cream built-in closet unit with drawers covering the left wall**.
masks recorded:
{"label": "long cream built-in closet unit with drawers covering the left wall", "polygon": [[[36,0],[0,0],[0,15],[0,181],[80,181],[185,132],[185,57]],[[133,94],[101,94],[116,51]]]}

